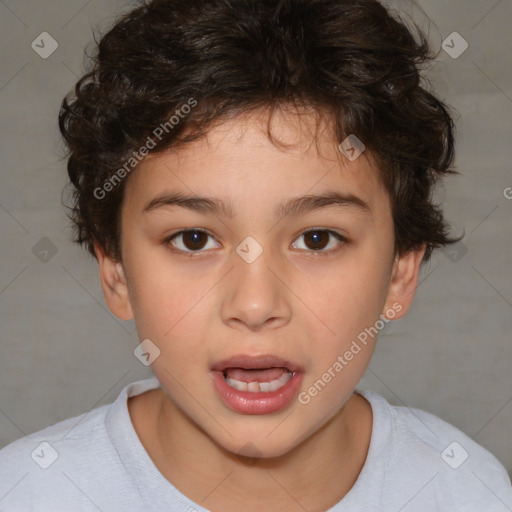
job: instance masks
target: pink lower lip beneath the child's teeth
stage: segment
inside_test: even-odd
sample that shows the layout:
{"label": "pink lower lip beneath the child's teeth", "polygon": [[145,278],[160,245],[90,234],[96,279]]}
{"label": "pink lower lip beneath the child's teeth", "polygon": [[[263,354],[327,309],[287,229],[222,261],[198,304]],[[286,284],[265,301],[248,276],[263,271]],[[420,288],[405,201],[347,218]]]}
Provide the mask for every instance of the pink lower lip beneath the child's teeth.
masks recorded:
{"label": "pink lower lip beneath the child's teeth", "polygon": [[292,378],[276,391],[239,391],[229,386],[222,372],[212,371],[213,386],[220,399],[233,411],[241,414],[271,414],[284,409],[297,394],[302,382],[302,373],[296,372]]}

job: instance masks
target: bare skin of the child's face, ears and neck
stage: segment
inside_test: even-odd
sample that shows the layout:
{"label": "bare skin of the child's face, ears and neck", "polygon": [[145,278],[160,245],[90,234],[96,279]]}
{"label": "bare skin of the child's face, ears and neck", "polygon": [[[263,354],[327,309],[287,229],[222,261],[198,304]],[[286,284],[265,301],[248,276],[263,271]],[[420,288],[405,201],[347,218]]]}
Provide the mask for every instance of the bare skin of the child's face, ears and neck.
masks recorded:
{"label": "bare skin of the child's face, ears and neck", "polygon": [[[307,405],[245,415],[224,405],[210,368],[238,354],[274,354],[304,368],[307,391],[379,316],[402,317],[413,300],[425,247],[394,254],[389,197],[369,151],[350,162],[332,131],[314,118],[278,111],[245,114],[173,152],[146,158],[130,175],[121,208],[122,262],[97,245],[102,288],[111,311],[135,319],[139,339],[160,356],[152,370],[161,389],[129,400],[134,428],[156,467],[186,496],[212,511],[321,511],[350,490],[371,439],[369,403],[354,388],[377,337]],[[143,212],[162,192],[231,202],[235,215],[179,206]],[[326,191],[351,193],[373,214],[329,206],[274,215],[282,201]],[[201,228],[200,253],[190,238]],[[321,251],[304,236],[332,230]],[[252,263],[235,251],[247,236],[263,248]],[[197,252],[197,251],[196,251]],[[249,459],[241,457],[245,455]],[[319,492],[319,489],[322,492]]]}

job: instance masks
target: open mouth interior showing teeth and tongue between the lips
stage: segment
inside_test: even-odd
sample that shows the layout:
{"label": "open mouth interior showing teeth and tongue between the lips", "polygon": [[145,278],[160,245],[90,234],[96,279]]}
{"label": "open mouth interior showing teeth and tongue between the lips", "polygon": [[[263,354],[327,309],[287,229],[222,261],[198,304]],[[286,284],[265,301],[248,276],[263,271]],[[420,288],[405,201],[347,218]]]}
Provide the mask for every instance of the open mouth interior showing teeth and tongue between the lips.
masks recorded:
{"label": "open mouth interior showing teeth and tongue between the lips", "polygon": [[226,384],[238,391],[270,393],[282,388],[294,375],[288,368],[226,368],[222,375]]}

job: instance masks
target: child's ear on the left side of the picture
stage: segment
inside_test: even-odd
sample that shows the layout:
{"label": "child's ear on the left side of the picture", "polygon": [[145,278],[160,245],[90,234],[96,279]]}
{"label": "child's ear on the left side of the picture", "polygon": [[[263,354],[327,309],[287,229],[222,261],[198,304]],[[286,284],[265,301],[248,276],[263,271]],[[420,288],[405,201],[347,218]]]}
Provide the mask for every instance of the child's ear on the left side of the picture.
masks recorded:
{"label": "child's ear on the left side of the picture", "polygon": [[122,263],[106,256],[97,243],[94,252],[100,265],[101,288],[110,311],[121,320],[131,320],[133,311]]}

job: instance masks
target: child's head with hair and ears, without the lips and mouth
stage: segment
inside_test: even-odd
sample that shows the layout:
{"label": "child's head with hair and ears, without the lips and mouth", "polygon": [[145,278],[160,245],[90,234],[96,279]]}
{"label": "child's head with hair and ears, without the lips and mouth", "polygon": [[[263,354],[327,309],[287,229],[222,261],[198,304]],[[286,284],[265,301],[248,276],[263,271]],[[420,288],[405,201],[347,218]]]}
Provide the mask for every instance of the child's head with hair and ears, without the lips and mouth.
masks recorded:
{"label": "child's head with hair and ears, without the lips and mouth", "polygon": [[[432,57],[373,0],[160,0],[102,37],[59,119],[75,240],[110,309],[160,350],[190,428],[290,451],[342,409],[377,322],[457,241],[432,203],[455,172],[451,117],[420,76]],[[240,354],[296,365],[302,400],[228,407],[212,372]]]}

